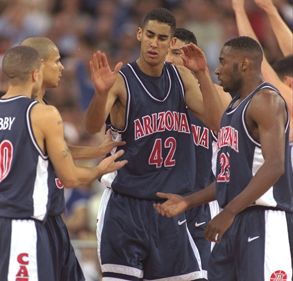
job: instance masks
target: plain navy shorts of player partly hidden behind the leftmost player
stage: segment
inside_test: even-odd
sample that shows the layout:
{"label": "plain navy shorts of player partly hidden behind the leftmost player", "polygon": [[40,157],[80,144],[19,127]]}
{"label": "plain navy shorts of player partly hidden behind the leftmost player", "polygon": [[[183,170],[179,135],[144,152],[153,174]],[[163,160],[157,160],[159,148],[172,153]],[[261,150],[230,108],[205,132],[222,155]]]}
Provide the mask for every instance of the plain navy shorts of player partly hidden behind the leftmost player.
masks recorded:
{"label": "plain navy shorts of player partly hidden behind the leftmost player", "polygon": [[62,217],[48,216],[44,227],[54,261],[54,281],[85,281]]}

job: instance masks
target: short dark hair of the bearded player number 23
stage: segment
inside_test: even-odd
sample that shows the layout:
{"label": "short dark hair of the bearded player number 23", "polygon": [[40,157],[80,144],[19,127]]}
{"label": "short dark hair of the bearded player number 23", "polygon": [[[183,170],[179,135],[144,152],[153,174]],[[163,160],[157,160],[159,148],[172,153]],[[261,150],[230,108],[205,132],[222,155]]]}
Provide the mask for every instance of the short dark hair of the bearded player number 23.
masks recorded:
{"label": "short dark hair of the bearded player number 23", "polygon": [[263,51],[260,45],[251,37],[240,36],[227,41],[224,46],[231,46],[233,50],[245,53],[246,56],[252,57],[258,62],[263,60]]}

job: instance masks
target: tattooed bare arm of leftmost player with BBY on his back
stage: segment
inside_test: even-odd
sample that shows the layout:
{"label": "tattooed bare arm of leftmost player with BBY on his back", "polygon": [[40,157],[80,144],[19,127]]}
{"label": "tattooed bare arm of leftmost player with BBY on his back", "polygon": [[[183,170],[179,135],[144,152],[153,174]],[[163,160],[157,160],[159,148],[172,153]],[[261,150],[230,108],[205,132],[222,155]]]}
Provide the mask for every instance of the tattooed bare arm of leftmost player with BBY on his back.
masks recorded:
{"label": "tattooed bare arm of leftmost player with BBY on his back", "polygon": [[60,181],[66,187],[86,185],[105,173],[122,168],[127,161],[114,162],[124,151],[105,158],[98,166],[76,167],[70,150],[64,141],[63,121],[53,106],[36,104],[31,110],[31,122],[36,141],[47,154]]}

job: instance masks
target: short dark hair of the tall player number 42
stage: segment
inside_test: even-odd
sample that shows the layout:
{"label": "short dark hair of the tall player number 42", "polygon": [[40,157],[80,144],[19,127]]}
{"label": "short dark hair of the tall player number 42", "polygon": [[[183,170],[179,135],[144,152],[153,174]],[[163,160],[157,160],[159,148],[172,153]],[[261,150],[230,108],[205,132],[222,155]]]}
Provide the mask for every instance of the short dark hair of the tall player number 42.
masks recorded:
{"label": "short dark hair of the tall player number 42", "polygon": [[143,22],[143,27],[149,20],[157,20],[161,23],[167,23],[171,27],[171,32],[174,34],[176,28],[176,19],[174,15],[166,8],[157,8],[149,11]]}

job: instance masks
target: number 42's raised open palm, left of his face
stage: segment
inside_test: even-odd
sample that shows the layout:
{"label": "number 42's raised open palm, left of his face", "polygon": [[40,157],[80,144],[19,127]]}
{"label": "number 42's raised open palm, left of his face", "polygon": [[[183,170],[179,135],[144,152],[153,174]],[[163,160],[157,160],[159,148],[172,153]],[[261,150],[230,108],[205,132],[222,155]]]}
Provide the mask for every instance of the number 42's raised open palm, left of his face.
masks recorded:
{"label": "number 42's raised open palm, left of his face", "polygon": [[89,65],[92,81],[97,92],[99,94],[107,94],[117,79],[117,75],[122,67],[122,62],[117,63],[115,70],[112,72],[105,53],[101,53],[99,50],[93,55],[93,59],[90,61]]}

